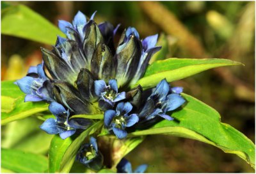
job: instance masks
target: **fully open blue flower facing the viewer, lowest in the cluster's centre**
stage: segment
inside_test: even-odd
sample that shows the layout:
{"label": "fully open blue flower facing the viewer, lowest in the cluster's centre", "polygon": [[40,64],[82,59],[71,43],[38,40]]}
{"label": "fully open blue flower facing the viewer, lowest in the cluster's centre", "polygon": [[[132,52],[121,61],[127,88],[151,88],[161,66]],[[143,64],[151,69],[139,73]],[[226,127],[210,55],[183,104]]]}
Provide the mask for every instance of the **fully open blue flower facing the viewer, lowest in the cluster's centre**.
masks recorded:
{"label": "fully open blue flower facing the viewer, lowest in the cluster's centre", "polygon": [[112,130],[117,138],[122,139],[127,136],[125,127],[131,127],[139,121],[138,115],[128,115],[132,110],[129,102],[120,102],[116,106],[116,110],[109,109],[104,113],[104,124],[109,131]]}

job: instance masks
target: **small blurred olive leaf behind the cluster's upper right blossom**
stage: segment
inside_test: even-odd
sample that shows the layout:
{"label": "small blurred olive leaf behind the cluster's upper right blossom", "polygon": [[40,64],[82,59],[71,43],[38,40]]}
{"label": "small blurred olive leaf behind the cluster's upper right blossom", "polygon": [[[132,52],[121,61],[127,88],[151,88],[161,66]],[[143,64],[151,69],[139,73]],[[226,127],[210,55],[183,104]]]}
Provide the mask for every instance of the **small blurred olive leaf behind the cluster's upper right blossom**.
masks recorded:
{"label": "small blurred olive leaf behind the cluster's upper right blossom", "polygon": [[156,43],[156,46],[161,46],[161,50],[157,51],[156,54],[152,56],[152,58],[149,61],[149,64],[152,64],[154,61],[165,59],[166,55],[168,54],[168,40],[166,38],[166,35],[164,33],[161,33],[159,36],[159,40]]}

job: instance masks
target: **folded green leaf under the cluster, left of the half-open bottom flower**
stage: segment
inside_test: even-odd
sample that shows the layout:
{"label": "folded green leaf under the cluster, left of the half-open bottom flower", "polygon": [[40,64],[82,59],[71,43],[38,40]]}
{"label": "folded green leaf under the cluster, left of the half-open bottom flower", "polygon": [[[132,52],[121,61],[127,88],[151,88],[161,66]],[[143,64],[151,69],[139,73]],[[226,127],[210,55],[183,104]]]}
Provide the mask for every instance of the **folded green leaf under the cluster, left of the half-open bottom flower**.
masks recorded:
{"label": "folded green leaf under the cluster, left of the half-open bottom flower", "polygon": [[68,173],[72,168],[77,151],[84,139],[97,131],[101,126],[102,121],[93,124],[74,140],[71,137],[61,139],[58,135],[54,136],[49,149],[49,172]]}

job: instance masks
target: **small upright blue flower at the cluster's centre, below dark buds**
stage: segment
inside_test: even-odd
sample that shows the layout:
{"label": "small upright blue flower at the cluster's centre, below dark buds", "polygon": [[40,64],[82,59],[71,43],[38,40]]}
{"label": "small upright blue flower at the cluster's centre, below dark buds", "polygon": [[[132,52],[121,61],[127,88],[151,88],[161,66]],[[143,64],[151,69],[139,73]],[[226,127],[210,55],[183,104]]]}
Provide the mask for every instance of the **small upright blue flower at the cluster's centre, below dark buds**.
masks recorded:
{"label": "small upright blue flower at the cluster's centre, below dark buds", "polygon": [[115,102],[125,99],[125,92],[118,93],[115,79],[109,80],[108,84],[107,86],[103,80],[94,81],[95,94],[101,97],[105,102],[108,102],[111,106],[113,106]]}

